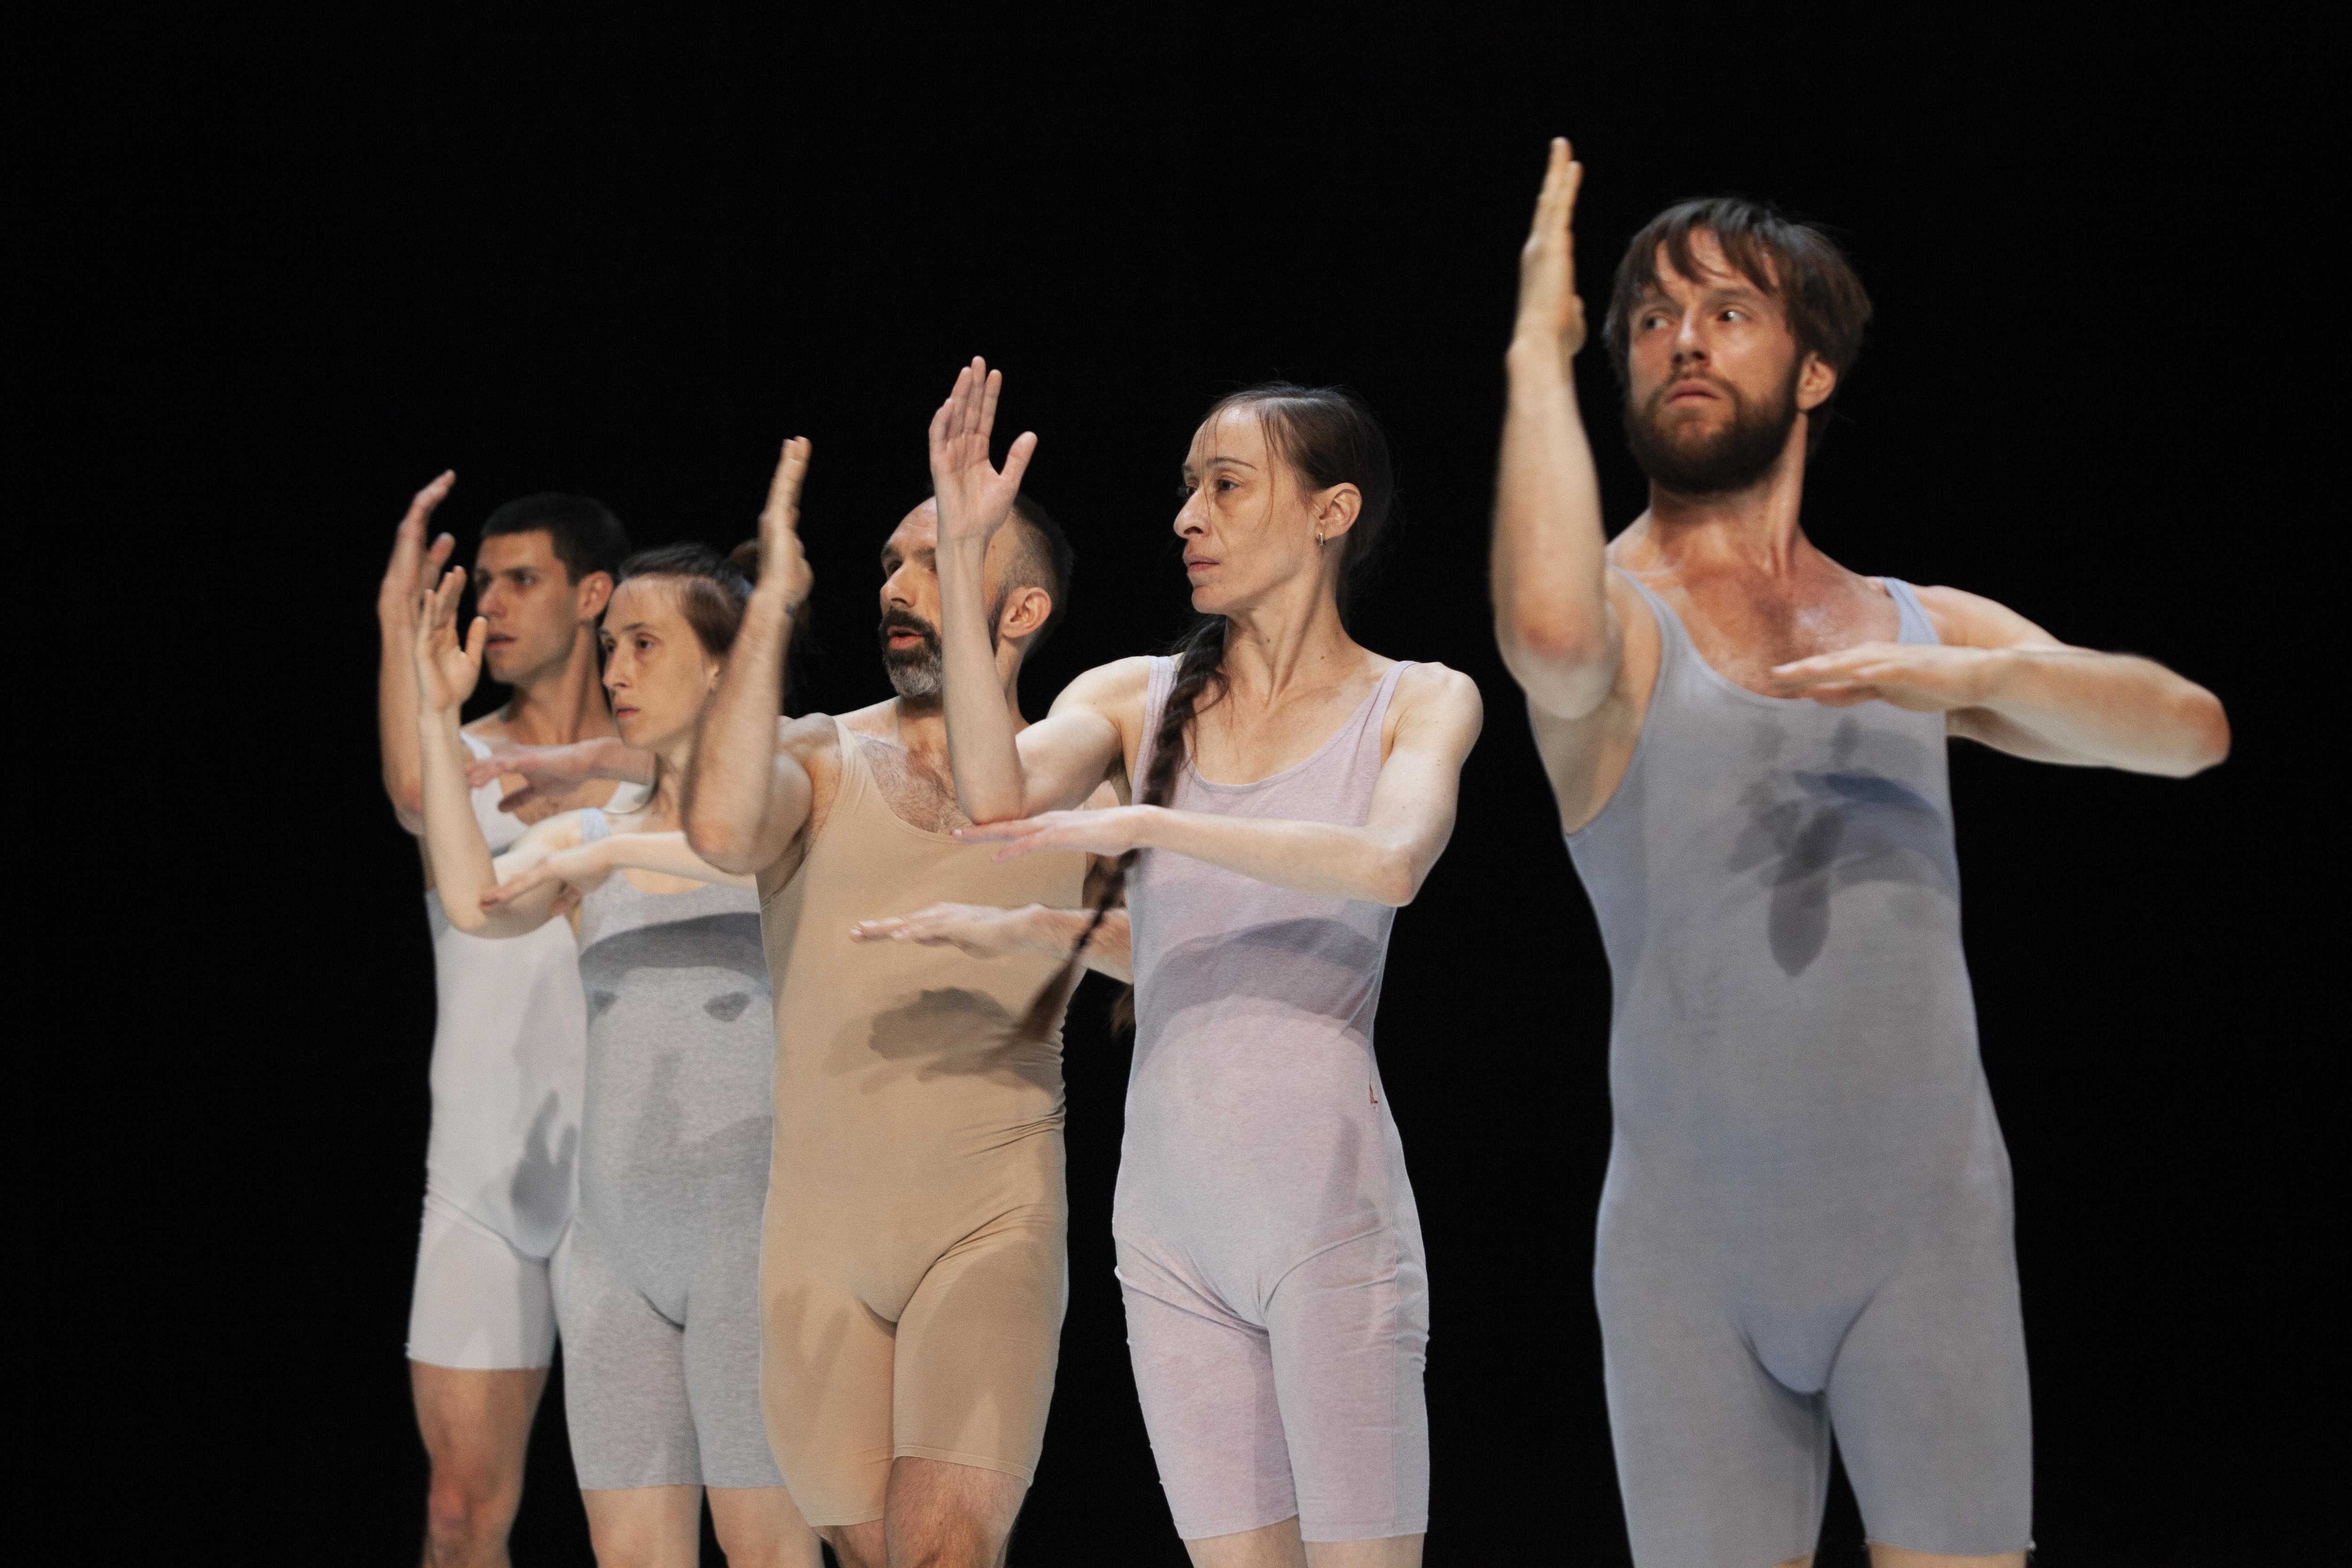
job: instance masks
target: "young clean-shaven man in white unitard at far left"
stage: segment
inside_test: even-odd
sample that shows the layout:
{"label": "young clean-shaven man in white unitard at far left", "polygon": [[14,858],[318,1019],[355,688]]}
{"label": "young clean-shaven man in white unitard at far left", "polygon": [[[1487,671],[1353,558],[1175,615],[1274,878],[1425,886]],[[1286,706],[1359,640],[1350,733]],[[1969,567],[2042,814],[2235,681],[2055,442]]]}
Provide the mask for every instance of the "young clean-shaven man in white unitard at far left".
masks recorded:
{"label": "young clean-shaven man in white unitard at far left", "polygon": [[[383,790],[412,835],[423,830],[416,590],[449,559],[454,541],[442,534],[428,545],[426,527],[454,482],[445,473],[416,494],[376,597]],[[487,675],[513,693],[466,726],[477,759],[616,733],[597,684],[595,628],[626,552],[621,522],[583,496],[529,496],[489,517],[475,555],[477,609],[489,625]],[[555,811],[616,804],[614,785],[600,780],[522,811],[499,811],[499,790],[496,780],[475,790],[475,816],[496,849]],[[567,933],[485,943],[452,929],[437,905],[430,914],[440,1023],[409,1312],[409,1385],[430,1462],[423,1561],[492,1568],[506,1563],[555,1345],[550,1258],[572,1220],[586,1006]]]}

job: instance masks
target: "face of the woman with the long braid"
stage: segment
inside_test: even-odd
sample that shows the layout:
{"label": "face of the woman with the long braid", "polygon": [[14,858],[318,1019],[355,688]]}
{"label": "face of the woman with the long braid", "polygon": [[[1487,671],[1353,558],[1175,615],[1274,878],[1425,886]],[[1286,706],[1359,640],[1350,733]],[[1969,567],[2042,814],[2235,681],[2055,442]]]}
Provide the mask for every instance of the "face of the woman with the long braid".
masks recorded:
{"label": "face of the woman with the long braid", "polygon": [[1204,423],[1185,456],[1176,512],[1192,609],[1232,614],[1301,574],[1319,574],[1317,557],[1338,545],[1315,545],[1319,501],[1298,489],[1256,409],[1225,409]]}

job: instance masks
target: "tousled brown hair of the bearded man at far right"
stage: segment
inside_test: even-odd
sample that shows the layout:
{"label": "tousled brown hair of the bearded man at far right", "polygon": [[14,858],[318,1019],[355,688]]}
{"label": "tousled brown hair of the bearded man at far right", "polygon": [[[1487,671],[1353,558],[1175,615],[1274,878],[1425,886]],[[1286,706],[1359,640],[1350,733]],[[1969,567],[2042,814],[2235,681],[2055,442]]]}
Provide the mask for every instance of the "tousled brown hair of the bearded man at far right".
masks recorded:
{"label": "tousled brown hair of the bearded man at far right", "polygon": [[1628,364],[1632,317],[1642,308],[1642,299],[1658,287],[1658,252],[1663,249],[1684,277],[1698,277],[1698,256],[1691,254],[1691,237],[1698,233],[1715,235],[1731,270],[1780,301],[1790,334],[1797,339],[1799,362],[1806,353],[1816,353],[1823,364],[1837,371],[1830,397],[1806,421],[1804,447],[1816,451],[1830,430],[1830,404],[1846,386],[1846,369],[1863,353],[1870,294],[1863,292],[1853,263],[1830,235],[1778,214],[1764,202],[1738,195],[1675,202],[1632,237],[1625,259],[1618,261],[1616,287],[1609,294],[1609,320],[1602,324],[1618,386],[1630,388],[1632,383]]}

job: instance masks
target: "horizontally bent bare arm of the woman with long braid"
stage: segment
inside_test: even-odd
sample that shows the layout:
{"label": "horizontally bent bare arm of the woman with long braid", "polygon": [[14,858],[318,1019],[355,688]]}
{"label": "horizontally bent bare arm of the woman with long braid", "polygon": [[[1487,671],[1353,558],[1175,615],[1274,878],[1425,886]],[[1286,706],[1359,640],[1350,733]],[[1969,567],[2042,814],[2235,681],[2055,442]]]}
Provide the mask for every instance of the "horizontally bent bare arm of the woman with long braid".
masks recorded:
{"label": "horizontally bent bare arm of the woman with long braid", "polygon": [[[1414,686],[1411,698],[1404,684]],[[1411,672],[1399,682],[1397,701],[1411,705],[1397,719],[1362,827],[1117,806],[974,825],[955,837],[1004,842],[1000,860],[1040,849],[1098,856],[1167,849],[1301,893],[1406,905],[1454,837],[1461,766],[1477,743],[1484,710],[1477,684],[1442,665]]]}

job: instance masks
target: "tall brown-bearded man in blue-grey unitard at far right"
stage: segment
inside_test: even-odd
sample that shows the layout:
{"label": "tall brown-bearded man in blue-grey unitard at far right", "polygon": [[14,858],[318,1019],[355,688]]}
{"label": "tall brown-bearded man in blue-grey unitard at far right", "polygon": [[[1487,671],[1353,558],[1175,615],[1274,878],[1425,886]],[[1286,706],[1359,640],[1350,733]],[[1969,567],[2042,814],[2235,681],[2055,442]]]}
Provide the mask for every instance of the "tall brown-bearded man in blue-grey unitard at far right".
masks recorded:
{"label": "tall brown-bearded man in blue-grey unitard at far right", "polygon": [[1496,496],[1526,689],[1616,1006],[1595,1288],[1642,1568],[1809,1563],[1846,1458],[1877,1568],[2023,1563],[2009,1157],[1959,945],[1945,736],[2187,776],[2220,703],[1804,536],[1870,301],[1818,230],[1684,202],[1606,343],[1649,510],[1604,543],[1564,141],[1522,256]]}

